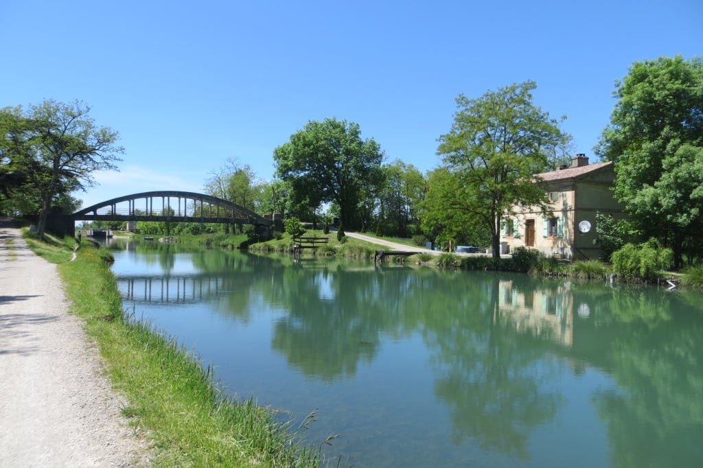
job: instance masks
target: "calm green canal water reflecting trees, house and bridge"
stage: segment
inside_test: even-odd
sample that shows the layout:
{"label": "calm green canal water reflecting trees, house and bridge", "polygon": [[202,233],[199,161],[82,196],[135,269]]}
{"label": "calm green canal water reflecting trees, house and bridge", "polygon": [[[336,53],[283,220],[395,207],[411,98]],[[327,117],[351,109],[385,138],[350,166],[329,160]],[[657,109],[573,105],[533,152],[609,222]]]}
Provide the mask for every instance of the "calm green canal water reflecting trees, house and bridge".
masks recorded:
{"label": "calm green canal water reflecting trees, house and bridge", "polygon": [[125,306],[356,467],[703,466],[703,295],[129,245]]}

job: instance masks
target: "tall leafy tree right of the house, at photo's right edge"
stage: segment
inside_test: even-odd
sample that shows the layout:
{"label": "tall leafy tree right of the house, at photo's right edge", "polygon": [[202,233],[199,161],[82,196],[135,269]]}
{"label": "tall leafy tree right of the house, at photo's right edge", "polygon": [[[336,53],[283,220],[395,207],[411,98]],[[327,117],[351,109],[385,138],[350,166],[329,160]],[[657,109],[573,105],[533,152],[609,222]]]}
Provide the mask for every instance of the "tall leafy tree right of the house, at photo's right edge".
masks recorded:
{"label": "tall leafy tree right of the house, at photo's right edge", "polygon": [[596,152],[615,162],[614,193],[633,223],[680,267],[700,253],[703,228],[703,61],[634,63],[614,97]]}

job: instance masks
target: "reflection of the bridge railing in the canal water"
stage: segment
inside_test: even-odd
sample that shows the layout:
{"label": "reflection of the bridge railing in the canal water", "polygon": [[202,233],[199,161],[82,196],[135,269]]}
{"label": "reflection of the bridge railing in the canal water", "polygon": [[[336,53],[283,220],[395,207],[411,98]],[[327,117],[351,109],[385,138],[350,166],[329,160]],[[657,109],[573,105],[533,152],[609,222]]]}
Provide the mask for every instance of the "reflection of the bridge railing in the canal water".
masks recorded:
{"label": "reflection of the bridge railing in the canal water", "polygon": [[222,275],[122,275],[117,287],[124,300],[138,304],[189,304],[228,292],[224,282]]}

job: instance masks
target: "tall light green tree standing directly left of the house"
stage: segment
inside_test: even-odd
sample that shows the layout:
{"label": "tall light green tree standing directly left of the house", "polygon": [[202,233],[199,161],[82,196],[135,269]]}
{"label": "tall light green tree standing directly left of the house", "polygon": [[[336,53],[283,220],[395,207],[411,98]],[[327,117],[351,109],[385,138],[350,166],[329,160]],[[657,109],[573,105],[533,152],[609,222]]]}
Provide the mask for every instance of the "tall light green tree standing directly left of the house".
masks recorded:
{"label": "tall light green tree standing directly left of the house", "polygon": [[460,95],[449,134],[439,137],[437,154],[456,174],[462,200],[447,205],[491,232],[494,257],[500,249],[501,220],[516,204],[541,204],[543,188],[535,183],[548,156],[563,145],[559,121],[532,103],[534,82],[488,91],[477,99]]}

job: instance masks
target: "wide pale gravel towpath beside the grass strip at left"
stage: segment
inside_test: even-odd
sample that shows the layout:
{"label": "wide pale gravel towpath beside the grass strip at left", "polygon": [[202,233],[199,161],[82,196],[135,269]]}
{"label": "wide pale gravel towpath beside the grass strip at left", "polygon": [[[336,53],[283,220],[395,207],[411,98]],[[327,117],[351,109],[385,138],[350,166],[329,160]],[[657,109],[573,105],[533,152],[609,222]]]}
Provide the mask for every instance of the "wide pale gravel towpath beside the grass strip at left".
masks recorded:
{"label": "wide pale gravel towpath beside the grass strip at left", "polygon": [[0,467],[148,465],[56,266],[0,219]]}

